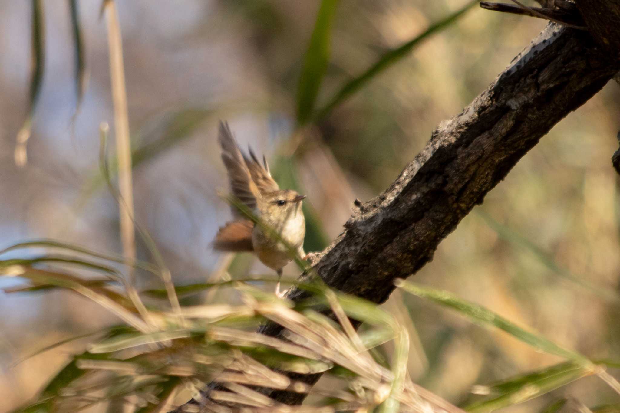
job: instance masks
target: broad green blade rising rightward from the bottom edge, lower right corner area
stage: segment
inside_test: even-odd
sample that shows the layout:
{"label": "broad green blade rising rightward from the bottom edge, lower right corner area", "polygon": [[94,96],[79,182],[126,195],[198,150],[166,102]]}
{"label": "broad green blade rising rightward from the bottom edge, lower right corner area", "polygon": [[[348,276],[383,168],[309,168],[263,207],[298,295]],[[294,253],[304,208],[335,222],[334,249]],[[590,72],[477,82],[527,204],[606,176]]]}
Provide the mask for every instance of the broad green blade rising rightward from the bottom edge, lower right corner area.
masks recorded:
{"label": "broad green blade rising rightward from the bottom edge, lower right corner area", "polygon": [[487,388],[491,394],[489,397],[469,404],[464,409],[472,413],[496,411],[537,398],[593,373],[578,363],[560,363],[491,385]]}

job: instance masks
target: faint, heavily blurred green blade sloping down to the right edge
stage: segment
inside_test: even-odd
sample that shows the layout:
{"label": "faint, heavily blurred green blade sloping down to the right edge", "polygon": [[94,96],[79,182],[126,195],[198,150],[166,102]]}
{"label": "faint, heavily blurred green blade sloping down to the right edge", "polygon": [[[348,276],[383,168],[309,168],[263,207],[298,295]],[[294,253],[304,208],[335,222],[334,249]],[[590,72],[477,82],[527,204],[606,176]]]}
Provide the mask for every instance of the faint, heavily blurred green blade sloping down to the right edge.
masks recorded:
{"label": "faint, heavily blurred green blade sloping down to the right edge", "polygon": [[538,245],[535,245],[532,241],[523,237],[523,235],[520,235],[512,228],[500,224],[486,212],[477,209],[476,213],[479,215],[479,217],[484,219],[487,225],[489,225],[489,227],[494,230],[497,235],[502,238],[502,240],[508,241],[513,245],[520,246],[521,248],[530,251],[534,254],[534,256],[536,256],[536,258],[541,264],[546,266],[551,271],[555,272],[560,277],[563,277],[570,282],[579,285],[580,287],[590,290],[601,298],[616,303],[620,301],[620,295],[618,295],[618,293],[614,292],[613,290],[607,290],[598,287],[598,285],[591,284],[585,279],[585,277],[575,276],[575,274],[572,274],[569,270],[560,267],[553,259],[551,254],[543,251],[542,248],[540,248]]}

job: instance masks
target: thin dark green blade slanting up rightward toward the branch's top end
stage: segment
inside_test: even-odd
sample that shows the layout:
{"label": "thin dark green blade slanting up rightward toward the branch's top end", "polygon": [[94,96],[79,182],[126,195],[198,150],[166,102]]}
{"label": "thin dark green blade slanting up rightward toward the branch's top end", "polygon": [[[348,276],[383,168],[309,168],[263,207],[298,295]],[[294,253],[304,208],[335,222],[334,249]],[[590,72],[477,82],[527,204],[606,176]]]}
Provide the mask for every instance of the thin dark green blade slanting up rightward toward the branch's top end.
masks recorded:
{"label": "thin dark green blade slanting up rightward toward the branch's top end", "polygon": [[427,28],[420,35],[412,38],[412,40],[407,41],[404,45],[399,46],[398,48],[388,51],[386,54],[381,56],[373,66],[366,69],[363,74],[356,77],[355,79],[349,80],[342,88],[335,93],[334,97],[329,100],[329,103],[325,105],[321,110],[317,111],[315,120],[321,120],[325,116],[329,115],[329,113],[334,110],[335,107],[340,105],[340,103],[344,102],[348,97],[353,95],[353,93],[360,90],[362,87],[366,85],[366,83],[373,80],[375,76],[379,73],[386,70],[388,67],[397,63],[399,60],[404,58],[418,43],[420,43],[425,38],[429,37],[433,33],[440,32],[444,28],[453,24],[453,22],[461,17],[467,10],[471,9],[472,6],[478,4],[479,0],[471,0],[469,1],[462,9],[454,12],[445,19],[436,22]]}

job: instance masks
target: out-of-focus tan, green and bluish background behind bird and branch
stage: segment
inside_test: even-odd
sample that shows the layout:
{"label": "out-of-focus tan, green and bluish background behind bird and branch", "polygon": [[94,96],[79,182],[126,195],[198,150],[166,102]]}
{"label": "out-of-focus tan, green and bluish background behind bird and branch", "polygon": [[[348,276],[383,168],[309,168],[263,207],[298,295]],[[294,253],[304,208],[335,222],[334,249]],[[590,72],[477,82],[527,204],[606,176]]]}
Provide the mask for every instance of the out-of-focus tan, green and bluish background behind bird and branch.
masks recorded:
{"label": "out-of-focus tan, green and bluish background behind bird and branch", "polygon": [[[321,250],[341,232],[353,199],[385,189],[435,126],[482,92],[546,24],[474,6],[411,43],[412,53],[409,46],[398,51],[468,4],[118,1],[136,219],[175,284],[216,279],[232,260],[210,248],[229,219],[216,194],[227,186],[219,119],[231,123],[242,147],[267,155],[282,187],[308,195],[306,250]],[[100,7],[100,0],[0,1],[0,248],[55,238],[121,251],[117,204],[99,172],[99,123],[113,121]],[[33,48],[33,33],[44,48]],[[34,86],[33,51],[44,55]],[[382,58],[383,70],[338,100]],[[608,84],[552,129],[441,243],[415,282],[490,308],[590,359],[620,359],[620,214],[610,162],[619,92]],[[19,167],[15,137],[30,126],[27,162]],[[150,259],[144,245],[138,254]],[[250,256],[234,259],[229,272],[268,274]],[[293,265],[285,270],[296,273]],[[138,284],[154,285],[149,277]],[[206,298],[238,300],[225,292]],[[563,361],[400,290],[384,306],[409,331],[412,379],[455,404],[467,404],[474,385]],[[17,360],[118,322],[61,291],[0,293],[0,310],[0,411],[32,398],[88,339]],[[585,406],[618,401],[589,377],[510,409],[540,411],[567,394]]]}

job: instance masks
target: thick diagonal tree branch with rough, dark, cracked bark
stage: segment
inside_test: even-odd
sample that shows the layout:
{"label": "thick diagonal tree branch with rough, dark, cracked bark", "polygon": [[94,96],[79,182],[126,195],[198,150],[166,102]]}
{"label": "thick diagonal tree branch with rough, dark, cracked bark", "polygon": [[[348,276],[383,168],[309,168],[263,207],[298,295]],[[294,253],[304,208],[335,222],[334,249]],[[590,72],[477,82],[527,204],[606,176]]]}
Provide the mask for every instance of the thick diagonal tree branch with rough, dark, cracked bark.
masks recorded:
{"label": "thick diagonal tree branch with rough, dark, cracked bark", "polygon": [[[620,0],[598,3],[620,11]],[[590,27],[592,17],[584,20]],[[487,90],[440,124],[383,194],[355,203],[344,232],[314,264],[322,279],[345,293],[376,303],[387,300],[396,278],[428,263],[440,241],[516,162],[620,70],[619,53],[609,53],[614,41],[593,37],[596,33],[549,24]],[[305,295],[294,289],[288,298]],[[271,323],[260,332],[282,337],[282,330]],[[320,377],[283,373],[311,384]],[[299,404],[306,396],[260,390],[286,404]]]}

